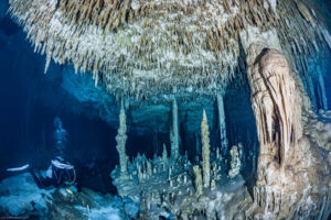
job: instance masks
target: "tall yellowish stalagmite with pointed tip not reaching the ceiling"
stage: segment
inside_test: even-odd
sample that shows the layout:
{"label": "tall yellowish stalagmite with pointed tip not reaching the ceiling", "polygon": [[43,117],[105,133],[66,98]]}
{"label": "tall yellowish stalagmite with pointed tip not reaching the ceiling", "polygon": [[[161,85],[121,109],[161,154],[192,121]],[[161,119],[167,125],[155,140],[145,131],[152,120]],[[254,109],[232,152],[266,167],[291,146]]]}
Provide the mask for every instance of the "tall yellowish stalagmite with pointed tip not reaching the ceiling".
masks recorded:
{"label": "tall yellowish stalagmite with pointed tip not reaching the ceiling", "polygon": [[203,119],[201,122],[201,142],[202,142],[202,172],[203,172],[203,186],[205,188],[211,185],[211,163],[210,163],[210,131],[205,110],[203,110]]}

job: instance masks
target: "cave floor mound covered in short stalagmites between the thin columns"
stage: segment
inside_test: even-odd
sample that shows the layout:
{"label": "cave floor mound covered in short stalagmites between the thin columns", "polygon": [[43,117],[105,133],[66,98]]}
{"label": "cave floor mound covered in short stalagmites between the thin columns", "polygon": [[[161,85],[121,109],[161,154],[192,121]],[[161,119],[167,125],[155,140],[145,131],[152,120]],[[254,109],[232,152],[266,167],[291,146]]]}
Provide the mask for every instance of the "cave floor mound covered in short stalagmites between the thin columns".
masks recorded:
{"label": "cave floor mound covered in short stalagmites between the thin columns", "polygon": [[[228,183],[221,182],[220,158],[210,157],[211,186],[204,188],[200,162],[193,166],[186,155],[179,155],[178,160],[164,155],[147,160],[138,154],[128,164],[132,178],[121,178],[119,167],[111,172],[119,195],[140,202],[140,219],[159,219],[164,212],[171,212],[175,219],[236,219],[238,212],[244,215],[247,207],[252,207],[253,200],[241,176]],[[149,167],[160,168],[150,173]],[[229,187],[232,190],[227,191]]]}

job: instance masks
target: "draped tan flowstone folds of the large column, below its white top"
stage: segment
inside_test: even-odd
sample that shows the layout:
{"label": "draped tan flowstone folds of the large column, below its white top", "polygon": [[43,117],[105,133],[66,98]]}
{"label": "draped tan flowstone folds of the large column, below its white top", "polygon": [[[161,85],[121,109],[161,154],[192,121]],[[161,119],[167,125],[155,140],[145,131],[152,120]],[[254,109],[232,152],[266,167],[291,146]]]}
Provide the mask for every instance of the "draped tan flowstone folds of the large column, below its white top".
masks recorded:
{"label": "draped tan flowstone folds of the large column, below its white top", "polygon": [[[257,56],[253,55],[256,54],[256,50],[257,55],[263,56],[258,64],[248,68],[248,79],[258,140],[263,146],[277,145],[279,152],[274,151],[269,156],[277,158],[284,168],[290,145],[297,144],[302,135],[301,109],[298,108],[300,98],[286,57],[276,50],[263,51],[255,44],[249,47],[248,54],[256,58]],[[252,62],[256,61],[248,59],[249,64]],[[260,147],[260,155],[266,154],[265,148],[268,154],[270,147]]]}

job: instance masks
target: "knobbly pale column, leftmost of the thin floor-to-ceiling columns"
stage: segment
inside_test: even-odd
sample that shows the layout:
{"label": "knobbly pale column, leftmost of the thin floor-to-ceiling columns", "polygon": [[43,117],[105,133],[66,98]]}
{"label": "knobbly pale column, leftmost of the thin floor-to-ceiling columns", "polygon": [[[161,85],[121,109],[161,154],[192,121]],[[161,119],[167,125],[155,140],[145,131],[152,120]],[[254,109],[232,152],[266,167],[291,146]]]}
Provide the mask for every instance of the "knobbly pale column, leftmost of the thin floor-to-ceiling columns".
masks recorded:
{"label": "knobbly pale column, leftmost of the thin floor-to-ceiling columns", "polygon": [[126,124],[126,112],[124,109],[124,102],[121,101],[120,113],[119,113],[119,128],[116,135],[116,148],[119,154],[120,173],[126,176],[128,173],[128,156],[126,155],[126,142],[127,142],[127,124]]}

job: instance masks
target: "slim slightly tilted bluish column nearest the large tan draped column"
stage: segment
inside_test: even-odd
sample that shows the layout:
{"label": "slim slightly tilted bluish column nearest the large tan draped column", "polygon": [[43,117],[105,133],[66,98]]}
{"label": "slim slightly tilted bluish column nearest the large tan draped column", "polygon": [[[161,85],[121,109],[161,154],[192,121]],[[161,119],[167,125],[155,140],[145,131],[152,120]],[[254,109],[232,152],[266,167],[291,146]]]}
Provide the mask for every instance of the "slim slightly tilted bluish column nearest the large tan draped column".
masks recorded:
{"label": "slim slightly tilted bluish column nearest the large tan draped column", "polygon": [[217,94],[217,107],[218,107],[218,127],[220,127],[221,146],[222,146],[221,152],[224,155],[227,153],[227,138],[226,138],[224,101],[223,101],[223,96],[221,94]]}

